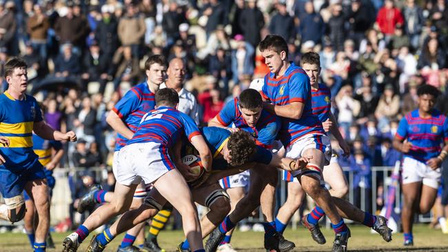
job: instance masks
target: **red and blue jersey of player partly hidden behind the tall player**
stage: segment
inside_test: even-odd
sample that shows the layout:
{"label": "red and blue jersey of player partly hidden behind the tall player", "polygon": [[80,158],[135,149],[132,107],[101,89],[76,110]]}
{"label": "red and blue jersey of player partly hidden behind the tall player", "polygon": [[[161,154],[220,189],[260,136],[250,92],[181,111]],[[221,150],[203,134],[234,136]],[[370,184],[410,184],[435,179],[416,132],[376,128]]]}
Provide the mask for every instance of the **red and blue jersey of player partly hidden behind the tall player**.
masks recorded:
{"label": "red and blue jersey of player partly hidden behind the tall player", "polygon": [[317,90],[311,89],[311,103],[314,116],[317,116],[320,122],[325,122],[329,118],[332,109],[332,94],[329,88],[319,83]]}

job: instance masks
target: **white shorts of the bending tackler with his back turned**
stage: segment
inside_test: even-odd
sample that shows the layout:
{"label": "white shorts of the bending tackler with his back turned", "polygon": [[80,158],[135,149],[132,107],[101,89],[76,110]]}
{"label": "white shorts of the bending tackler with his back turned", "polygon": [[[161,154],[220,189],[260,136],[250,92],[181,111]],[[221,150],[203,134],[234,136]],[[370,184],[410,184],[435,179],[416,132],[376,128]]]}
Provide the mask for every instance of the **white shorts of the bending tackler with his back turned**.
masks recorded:
{"label": "white shorts of the bending tackler with his back turned", "polygon": [[115,158],[112,169],[121,185],[138,185],[142,180],[145,185],[151,184],[175,168],[167,147],[160,143],[126,145]]}

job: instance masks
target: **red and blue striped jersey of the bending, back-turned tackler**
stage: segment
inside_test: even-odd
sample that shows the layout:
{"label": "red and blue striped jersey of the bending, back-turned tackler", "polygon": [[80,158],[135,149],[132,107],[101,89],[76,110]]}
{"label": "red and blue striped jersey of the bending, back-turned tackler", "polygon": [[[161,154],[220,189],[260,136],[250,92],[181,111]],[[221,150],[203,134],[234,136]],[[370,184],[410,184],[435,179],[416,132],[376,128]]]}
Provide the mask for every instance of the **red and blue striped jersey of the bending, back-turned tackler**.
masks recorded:
{"label": "red and blue striped jersey of the bending, back-turned tackler", "polygon": [[145,114],[134,136],[128,141],[133,143],[160,143],[171,147],[185,133],[188,140],[193,136],[201,135],[194,120],[172,107],[159,107]]}

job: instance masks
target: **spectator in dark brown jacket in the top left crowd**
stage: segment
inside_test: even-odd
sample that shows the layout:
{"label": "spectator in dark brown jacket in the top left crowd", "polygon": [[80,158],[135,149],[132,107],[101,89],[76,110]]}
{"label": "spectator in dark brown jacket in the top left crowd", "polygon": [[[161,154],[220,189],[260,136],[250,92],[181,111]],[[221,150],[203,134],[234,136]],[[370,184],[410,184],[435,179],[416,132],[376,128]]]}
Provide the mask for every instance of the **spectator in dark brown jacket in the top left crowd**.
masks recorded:
{"label": "spectator in dark brown jacket in the top left crowd", "polygon": [[85,36],[88,34],[88,25],[83,17],[74,14],[72,4],[67,6],[67,14],[59,17],[54,24],[54,31],[59,36],[60,52],[63,52],[63,45],[70,43],[72,53],[81,55],[81,49],[84,45]]}

